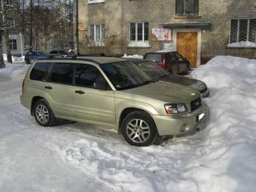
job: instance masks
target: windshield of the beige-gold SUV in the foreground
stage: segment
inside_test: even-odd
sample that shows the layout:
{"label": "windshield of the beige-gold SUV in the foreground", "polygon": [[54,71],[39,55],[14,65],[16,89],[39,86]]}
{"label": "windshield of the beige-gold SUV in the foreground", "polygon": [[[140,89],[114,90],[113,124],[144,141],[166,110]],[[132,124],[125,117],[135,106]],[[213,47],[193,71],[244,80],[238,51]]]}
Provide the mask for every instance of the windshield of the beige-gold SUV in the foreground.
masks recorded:
{"label": "windshield of the beige-gold SUV in the foreground", "polygon": [[100,67],[117,90],[126,90],[154,82],[154,78],[143,72],[133,62],[107,63]]}

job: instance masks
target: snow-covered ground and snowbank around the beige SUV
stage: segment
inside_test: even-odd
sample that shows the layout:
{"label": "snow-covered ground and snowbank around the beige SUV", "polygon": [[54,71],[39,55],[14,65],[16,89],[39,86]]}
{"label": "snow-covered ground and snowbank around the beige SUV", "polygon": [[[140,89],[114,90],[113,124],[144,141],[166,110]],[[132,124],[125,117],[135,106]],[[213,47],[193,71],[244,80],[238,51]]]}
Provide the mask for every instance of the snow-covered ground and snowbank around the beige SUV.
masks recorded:
{"label": "snow-covered ground and snowbank around the beige SUV", "polygon": [[1,191],[255,191],[256,60],[194,70],[212,91],[208,127],[146,148],[82,123],[38,126],[19,100],[26,69],[0,69]]}

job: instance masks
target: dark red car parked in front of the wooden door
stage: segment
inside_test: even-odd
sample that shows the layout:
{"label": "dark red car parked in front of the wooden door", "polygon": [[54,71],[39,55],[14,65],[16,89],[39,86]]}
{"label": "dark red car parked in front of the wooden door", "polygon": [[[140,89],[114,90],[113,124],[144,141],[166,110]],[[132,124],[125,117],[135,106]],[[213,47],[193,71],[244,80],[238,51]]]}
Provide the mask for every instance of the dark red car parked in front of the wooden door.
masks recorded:
{"label": "dark red car parked in front of the wooden door", "polygon": [[176,51],[156,51],[146,53],[144,59],[156,62],[158,66],[173,74],[187,75],[190,62]]}

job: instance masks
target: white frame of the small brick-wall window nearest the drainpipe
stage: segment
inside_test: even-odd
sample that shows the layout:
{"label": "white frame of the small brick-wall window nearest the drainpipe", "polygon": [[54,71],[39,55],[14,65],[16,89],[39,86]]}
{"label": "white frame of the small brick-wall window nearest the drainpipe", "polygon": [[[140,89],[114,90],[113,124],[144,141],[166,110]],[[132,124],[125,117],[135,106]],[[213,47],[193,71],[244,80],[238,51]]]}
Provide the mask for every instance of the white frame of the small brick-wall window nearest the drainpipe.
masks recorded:
{"label": "white frame of the small brick-wall window nearest the drainpipe", "polygon": [[[93,26],[93,39],[92,39],[92,35],[91,35],[91,27],[92,26]],[[99,40],[100,41],[96,41],[96,26],[99,26]],[[90,24],[88,26],[88,35],[89,35],[89,46],[90,47],[104,47],[105,46],[105,24]]]}

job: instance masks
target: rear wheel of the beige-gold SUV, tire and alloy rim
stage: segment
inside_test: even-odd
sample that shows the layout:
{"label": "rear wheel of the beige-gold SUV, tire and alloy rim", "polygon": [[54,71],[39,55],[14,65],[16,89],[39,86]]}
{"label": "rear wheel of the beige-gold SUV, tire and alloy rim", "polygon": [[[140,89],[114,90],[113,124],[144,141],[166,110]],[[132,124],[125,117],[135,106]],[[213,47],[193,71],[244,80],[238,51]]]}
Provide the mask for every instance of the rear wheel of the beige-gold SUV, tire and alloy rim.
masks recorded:
{"label": "rear wheel of the beige-gold SUV, tire and alloy rim", "polygon": [[52,109],[44,99],[35,102],[33,113],[36,122],[41,126],[53,126],[53,123],[56,120]]}

